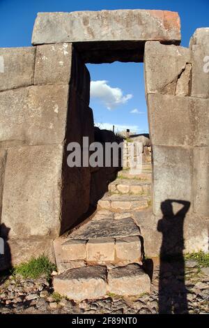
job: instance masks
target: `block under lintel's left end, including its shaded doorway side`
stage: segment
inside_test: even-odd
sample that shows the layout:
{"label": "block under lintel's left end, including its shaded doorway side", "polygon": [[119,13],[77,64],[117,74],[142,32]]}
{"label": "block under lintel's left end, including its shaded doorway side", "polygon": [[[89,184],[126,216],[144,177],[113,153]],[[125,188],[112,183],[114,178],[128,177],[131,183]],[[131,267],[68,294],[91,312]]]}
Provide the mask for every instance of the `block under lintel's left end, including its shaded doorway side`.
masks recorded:
{"label": "block under lintel's left end, including its shaded doorway side", "polygon": [[38,45],[34,84],[70,84],[89,104],[90,74],[72,43]]}

